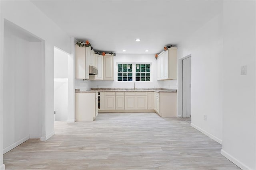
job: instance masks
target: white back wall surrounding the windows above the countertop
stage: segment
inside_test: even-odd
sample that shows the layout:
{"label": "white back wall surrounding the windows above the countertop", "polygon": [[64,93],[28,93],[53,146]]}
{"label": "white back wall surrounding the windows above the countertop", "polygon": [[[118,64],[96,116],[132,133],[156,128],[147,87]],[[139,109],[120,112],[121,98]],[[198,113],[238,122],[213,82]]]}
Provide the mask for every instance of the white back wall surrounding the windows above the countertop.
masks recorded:
{"label": "white back wall surrounding the windows above the countertop", "polygon": [[[156,59],[152,54],[151,55],[117,54],[116,57],[114,57],[114,81],[113,80],[88,80],[90,88],[134,88],[134,80],[133,82],[117,81],[117,64],[118,63],[134,63],[134,62],[151,63],[151,81],[136,82],[136,88],[177,88],[176,80],[161,80],[161,81],[156,80]],[[81,84],[81,80],[79,81],[79,83]],[[86,85],[88,86],[88,84]]]}

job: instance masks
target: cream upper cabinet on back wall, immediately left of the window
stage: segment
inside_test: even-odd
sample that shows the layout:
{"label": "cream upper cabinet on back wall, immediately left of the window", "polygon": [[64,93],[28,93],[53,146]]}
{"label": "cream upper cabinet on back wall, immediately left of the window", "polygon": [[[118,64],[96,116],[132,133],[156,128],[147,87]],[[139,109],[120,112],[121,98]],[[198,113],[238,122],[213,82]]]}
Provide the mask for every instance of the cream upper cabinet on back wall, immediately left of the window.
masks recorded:
{"label": "cream upper cabinet on back wall, immediately left of the window", "polygon": [[114,57],[112,55],[103,56],[103,79],[114,80]]}

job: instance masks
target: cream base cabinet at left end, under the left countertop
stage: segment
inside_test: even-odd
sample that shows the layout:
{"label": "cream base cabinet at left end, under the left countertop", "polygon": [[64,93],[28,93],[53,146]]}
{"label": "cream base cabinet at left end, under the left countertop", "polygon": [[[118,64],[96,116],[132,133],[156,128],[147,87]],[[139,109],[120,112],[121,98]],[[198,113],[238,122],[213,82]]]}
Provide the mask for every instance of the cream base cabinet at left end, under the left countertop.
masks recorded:
{"label": "cream base cabinet at left end, under the left countertop", "polygon": [[75,94],[76,121],[94,121],[98,115],[98,93]]}

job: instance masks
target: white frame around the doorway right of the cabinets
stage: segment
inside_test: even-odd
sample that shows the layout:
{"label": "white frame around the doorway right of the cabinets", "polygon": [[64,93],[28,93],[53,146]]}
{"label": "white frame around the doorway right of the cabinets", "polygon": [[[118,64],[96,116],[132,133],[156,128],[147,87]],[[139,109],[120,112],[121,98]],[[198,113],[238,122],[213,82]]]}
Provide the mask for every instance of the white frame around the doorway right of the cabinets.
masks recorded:
{"label": "white frame around the doorway right of the cabinets", "polygon": [[[178,60],[178,109],[177,109],[177,117],[182,117],[182,68],[183,68],[183,60],[187,59],[191,57],[192,60],[192,56],[187,55],[185,57],[182,57],[181,59]],[[191,62],[191,66],[192,66],[192,62]]]}

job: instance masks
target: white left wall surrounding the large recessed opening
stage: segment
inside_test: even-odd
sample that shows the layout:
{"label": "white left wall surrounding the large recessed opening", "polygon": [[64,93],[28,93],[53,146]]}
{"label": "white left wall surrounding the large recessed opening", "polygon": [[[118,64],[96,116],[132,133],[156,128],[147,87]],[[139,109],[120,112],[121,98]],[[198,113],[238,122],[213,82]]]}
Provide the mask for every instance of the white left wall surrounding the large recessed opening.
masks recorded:
{"label": "white left wall surrounding the large recessed opening", "polygon": [[[28,32],[40,37],[45,43],[42,43],[42,63],[43,72],[42,85],[42,137],[46,140],[54,134],[54,46],[70,53],[71,41],[62,29],[60,29],[52,20],[36,8],[30,1],[0,1],[0,35],[4,37],[4,19],[22,27]],[[4,39],[0,39],[0,49],[4,49]],[[4,51],[0,53],[0,118],[3,116],[3,102],[5,100],[3,93],[4,77]],[[2,135],[3,119],[0,119],[0,168],[4,168],[2,161]]]}

